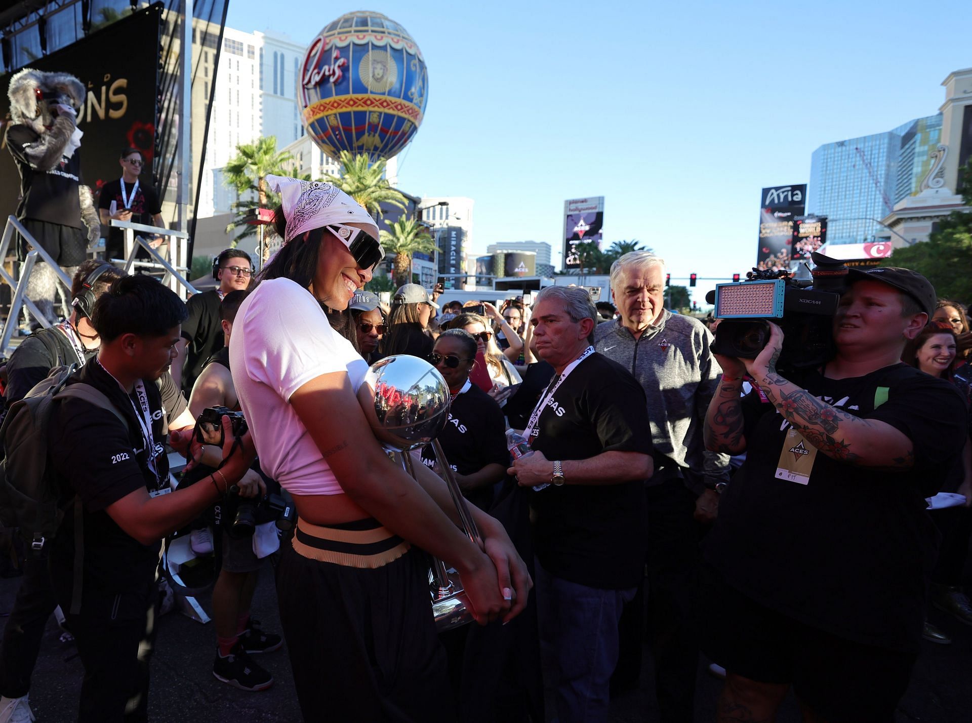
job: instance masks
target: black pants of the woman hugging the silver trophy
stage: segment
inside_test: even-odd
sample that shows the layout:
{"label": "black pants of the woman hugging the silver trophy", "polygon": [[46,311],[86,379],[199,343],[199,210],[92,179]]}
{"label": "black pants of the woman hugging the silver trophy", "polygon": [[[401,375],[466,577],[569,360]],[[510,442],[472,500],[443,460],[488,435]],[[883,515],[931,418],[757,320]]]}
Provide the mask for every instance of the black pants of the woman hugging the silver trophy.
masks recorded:
{"label": "black pants of the woman hugging the silver trophy", "polygon": [[305,721],[456,719],[423,553],[367,569],[281,552],[280,620]]}

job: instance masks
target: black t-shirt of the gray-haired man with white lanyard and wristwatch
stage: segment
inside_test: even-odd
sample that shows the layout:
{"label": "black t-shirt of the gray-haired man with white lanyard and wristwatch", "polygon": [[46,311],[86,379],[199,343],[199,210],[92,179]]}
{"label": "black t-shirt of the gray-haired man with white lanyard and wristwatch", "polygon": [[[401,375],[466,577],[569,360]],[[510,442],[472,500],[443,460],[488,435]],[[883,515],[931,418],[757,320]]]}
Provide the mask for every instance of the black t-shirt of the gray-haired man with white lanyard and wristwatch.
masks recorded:
{"label": "black t-shirt of the gray-haired man with white lanyard and wristwatch", "polygon": [[[574,367],[540,413],[530,446],[548,460],[603,452],[651,454],[642,386],[601,354]],[[548,572],[588,587],[635,587],[644,566],[641,480],[616,485],[553,485],[533,496],[537,556]]]}

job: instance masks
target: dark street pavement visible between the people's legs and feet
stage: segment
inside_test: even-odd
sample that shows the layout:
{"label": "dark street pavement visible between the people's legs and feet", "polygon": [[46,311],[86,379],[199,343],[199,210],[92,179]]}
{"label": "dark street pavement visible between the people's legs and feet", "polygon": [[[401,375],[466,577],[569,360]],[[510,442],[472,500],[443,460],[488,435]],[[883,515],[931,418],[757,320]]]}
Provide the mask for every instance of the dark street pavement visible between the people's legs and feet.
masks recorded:
{"label": "dark street pavement visible between the people's legs and feet", "polygon": [[[0,614],[5,616],[10,610],[18,585],[17,577],[0,579]],[[200,602],[207,611],[212,610],[206,597],[201,597]],[[273,573],[269,567],[261,572],[253,613],[262,621],[264,630],[280,630]],[[2,619],[5,623],[6,618]],[[952,645],[924,643],[911,686],[899,706],[895,723],[969,723],[972,721],[972,627],[964,626],[938,610],[932,610],[929,619],[953,636],[955,642]],[[52,619],[45,633],[30,693],[30,703],[38,723],[67,723],[76,719],[83,669],[74,644],[61,642],[60,634]],[[201,625],[179,612],[159,619],[156,652],[152,659],[150,720],[161,723],[299,721],[300,711],[291,681],[286,645],[277,652],[254,656],[261,666],[273,673],[275,683],[269,690],[247,693],[213,677],[215,635],[212,623]],[[612,723],[658,720],[649,682],[650,661],[650,651],[645,647],[641,686],[619,695],[611,702]],[[697,723],[713,720],[714,703],[721,687],[721,681],[706,671],[707,663],[701,661],[699,666],[695,711]],[[861,693],[866,695],[867,692]],[[547,702],[549,720],[553,711],[549,695]],[[327,718],[322,717],[321,720],[327,721]],[[798,721],[799,709],[792,696],[789,696],[778,722]]]}

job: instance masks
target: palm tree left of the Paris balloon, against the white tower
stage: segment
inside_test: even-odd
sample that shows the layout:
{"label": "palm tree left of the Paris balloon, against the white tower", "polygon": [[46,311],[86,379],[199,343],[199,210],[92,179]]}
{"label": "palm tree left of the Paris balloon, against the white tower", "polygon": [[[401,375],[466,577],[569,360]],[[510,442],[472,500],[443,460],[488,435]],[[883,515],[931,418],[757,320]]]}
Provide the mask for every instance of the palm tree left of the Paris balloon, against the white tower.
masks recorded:
{"label": "palm tree left of the Paris balloon, against the white tower", "polygon": [[[289,175],[286,165],[293,160],[294,156],[289,153],[277,153],[276,136],[266,136],[257,139],[256,143],[244,143],[236,147],[236,155],[224,167],[226,186],[236,189],[238,199],[233,203],[236,218],[226,224],[226,233],[243,225],[244,218],[252,209],[277,206],[280,197],[266,185],[266,176],[270,173],[276,176]],[[232,245],[236,246],[241,238],[256,233],[256,229],[255,225],[246,225]]]}

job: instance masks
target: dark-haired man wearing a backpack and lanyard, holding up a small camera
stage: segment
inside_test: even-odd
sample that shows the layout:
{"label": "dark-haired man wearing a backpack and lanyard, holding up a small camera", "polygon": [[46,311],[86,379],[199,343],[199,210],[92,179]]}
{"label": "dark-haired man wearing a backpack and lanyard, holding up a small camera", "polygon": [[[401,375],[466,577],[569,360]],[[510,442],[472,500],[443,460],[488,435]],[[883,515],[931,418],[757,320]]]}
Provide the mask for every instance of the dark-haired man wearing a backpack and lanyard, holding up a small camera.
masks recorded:
{"label": "dark-haired man wearing a backpack and lanyard, holding up a small camera", "polygon": [[[234,451],[225,424],[228,459],[221,469],[189,489],[169,488],[165,419],[179,416],[185,402],[172,385],[163,397],[155,382],[174,357],[185,319],[185,304],[154,278],[116,281],[94,304],[98,356],[68,384],[94,387],[124,423],[112,410],[76,397],[52,413],[48,464],[64,498],[74,497],[50,543],[52,584],[69,610],[66,624],[85,666],[81,721],[146,720],[160,540],[226,494],[253,457],[246,439]],[[190,435],[191,429],[171,430],[169,440],[185,446]]]}

